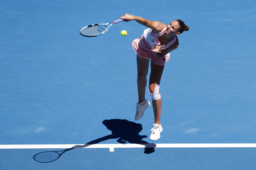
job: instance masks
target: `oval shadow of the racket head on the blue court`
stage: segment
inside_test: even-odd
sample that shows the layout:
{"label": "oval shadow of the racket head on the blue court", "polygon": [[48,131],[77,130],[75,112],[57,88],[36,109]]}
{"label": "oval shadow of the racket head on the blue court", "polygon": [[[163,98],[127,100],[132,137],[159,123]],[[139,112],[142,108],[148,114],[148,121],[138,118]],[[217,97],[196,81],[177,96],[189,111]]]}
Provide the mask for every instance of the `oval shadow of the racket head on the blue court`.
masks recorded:
{"label": "oval shadow of the racket head on the blue court", "polygon": [[59,159],[61,154],[56,151],[40,152],[34,155],[33,159],[37,162],[48,163]]}

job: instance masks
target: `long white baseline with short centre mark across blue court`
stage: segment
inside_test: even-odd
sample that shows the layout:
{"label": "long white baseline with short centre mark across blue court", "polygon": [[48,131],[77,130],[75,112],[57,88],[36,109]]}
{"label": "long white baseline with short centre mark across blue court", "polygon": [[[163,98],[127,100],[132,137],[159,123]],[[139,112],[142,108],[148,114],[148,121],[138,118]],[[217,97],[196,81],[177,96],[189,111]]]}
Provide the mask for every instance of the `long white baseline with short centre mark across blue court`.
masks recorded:
{"label": "long white baseline with short centre mark across blue court", "polygon": [[66,148],[256,148],[256,144],[2,144],[0,149],[66,149]]}

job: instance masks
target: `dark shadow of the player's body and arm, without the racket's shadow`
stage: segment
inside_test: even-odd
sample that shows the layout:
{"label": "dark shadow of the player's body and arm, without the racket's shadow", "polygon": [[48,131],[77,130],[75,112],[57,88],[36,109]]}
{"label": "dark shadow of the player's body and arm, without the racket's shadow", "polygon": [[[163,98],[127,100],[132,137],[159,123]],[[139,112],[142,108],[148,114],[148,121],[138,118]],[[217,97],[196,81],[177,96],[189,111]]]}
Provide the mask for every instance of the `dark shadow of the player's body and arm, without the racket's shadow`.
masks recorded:
{"label": "dark shadow of the player's body and arm, without the racket's shadow", "polygon": [[99,139],[88,142],[85,145],[76,145],[75,148],[83,148],[88,146],[88,144],[98,144],[101,141],[105,141],[108,139],[117,139],[117,142],[120,144],[142,144],[145,145],[144,153],[152,153],[155,152],[156,144],[149,144],[148,142],[142,140],[147,137],[146,135],[139,135],[142,130],[142,125],[140,123],[131,122],[125,119],[110,119],[104,120],[102,122],[108,130],[112,131],[111,135],[107,135],[105,137],[101,137]]}

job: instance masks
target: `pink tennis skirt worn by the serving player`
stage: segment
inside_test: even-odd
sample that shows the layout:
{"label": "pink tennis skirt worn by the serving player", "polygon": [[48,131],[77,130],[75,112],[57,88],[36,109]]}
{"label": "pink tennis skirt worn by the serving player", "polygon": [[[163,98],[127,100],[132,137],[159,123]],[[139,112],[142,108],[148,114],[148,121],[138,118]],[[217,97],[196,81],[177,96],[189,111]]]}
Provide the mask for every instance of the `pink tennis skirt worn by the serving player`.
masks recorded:
{"label": "pink tennis skirt worn by the serving player", "polygon": [[132,48],[140,58],[151,59],[157,65],[165,66],[165,63],[168,62],[170,59],[170,53],[166,54],[163,58],[156,58],[151,53],[152,47],[150,47],[147,41],[144,39],[143,34],[141,38],[137,38],[132,41]]}

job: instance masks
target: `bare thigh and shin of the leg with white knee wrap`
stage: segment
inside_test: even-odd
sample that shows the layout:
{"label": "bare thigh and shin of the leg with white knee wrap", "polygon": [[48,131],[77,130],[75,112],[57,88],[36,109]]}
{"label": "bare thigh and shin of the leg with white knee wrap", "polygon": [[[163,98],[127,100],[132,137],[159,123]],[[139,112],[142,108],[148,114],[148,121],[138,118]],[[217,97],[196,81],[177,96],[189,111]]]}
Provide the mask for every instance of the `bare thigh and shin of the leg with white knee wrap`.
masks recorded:
{"label": "bare thigh and shin of the leg with white knee wrap", "polygon": [[[156,85],[160,85],[161,77],[163,74],[164,66],[156,65],[153,61],[150,63],[151,72],[149,77],[149,92],[153,94],[155,92]],[[160,92],[159,92],[160,95]],[[161,108],[162,108],[162,99],[153,100],[152,106],[155,116],[155,124],[161,124],[160,116],[161,116]]]}

